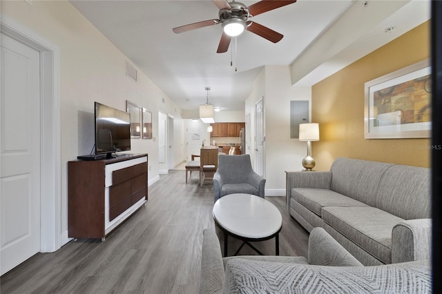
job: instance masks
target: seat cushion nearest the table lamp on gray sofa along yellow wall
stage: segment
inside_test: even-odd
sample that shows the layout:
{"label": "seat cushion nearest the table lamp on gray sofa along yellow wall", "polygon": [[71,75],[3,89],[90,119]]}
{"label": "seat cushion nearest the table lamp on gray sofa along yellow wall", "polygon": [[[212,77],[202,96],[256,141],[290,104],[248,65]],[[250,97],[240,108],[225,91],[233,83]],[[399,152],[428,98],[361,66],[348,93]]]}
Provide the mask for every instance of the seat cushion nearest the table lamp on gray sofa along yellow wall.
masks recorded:
{"label": "seat cushion nearest the table lamp on gray sofa along yellow wall", "polygon": [[327,189],[293,188],[291,197],[319,216],[325,206],[367,206],[363,202]]}

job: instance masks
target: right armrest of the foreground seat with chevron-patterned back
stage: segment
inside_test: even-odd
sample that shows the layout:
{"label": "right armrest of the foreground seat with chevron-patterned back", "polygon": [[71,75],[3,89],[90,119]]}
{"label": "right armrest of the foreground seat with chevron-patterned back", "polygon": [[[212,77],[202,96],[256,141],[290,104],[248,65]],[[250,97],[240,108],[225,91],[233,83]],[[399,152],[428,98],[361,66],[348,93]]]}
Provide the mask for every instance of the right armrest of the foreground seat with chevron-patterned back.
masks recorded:
{"label": "right armrest of the foreground seat with chevron-patterned back", "polygon": [[318,266],[363,266],[323,228],[314,228],[309,236],[309,264]]}

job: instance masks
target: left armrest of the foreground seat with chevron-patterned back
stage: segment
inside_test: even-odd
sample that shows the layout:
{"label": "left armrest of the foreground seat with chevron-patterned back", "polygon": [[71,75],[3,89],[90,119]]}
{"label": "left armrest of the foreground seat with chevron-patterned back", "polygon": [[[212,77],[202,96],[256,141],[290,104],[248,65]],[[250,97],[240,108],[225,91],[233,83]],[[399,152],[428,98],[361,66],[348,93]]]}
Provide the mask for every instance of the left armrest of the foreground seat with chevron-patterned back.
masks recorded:
{"label": "left armrest of the foreground seat with chevron-patterned back", "polygon": [[202,232],[200,293],[222,293],[224,264],[220,242],[213,228]]}

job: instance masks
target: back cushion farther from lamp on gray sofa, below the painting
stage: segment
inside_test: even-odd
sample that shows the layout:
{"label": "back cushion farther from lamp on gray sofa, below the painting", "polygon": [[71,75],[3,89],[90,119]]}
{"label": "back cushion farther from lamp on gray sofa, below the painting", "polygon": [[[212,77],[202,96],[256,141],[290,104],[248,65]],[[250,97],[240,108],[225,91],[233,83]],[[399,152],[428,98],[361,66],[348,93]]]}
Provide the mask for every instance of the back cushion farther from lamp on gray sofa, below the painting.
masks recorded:
{"label": "back cushion farther from lamp on gray sofa, below the painting", "polygon": [[430,168],[391,166],[378,185],[374,207],[403,219],[429,218],[430,184]]}

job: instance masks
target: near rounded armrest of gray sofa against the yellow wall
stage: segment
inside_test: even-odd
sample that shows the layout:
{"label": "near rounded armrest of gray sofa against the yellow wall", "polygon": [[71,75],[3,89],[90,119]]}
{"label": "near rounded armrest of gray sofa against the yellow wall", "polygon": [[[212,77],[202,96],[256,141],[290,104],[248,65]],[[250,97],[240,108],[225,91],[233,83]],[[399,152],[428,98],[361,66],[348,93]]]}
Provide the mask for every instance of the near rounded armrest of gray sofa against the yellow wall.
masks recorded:
{"label": "near rounded armrest of gray sofa against the yellow wall", "polygon": [[431,258],[431,219],[409,219],[392,231],[392,263]]}

